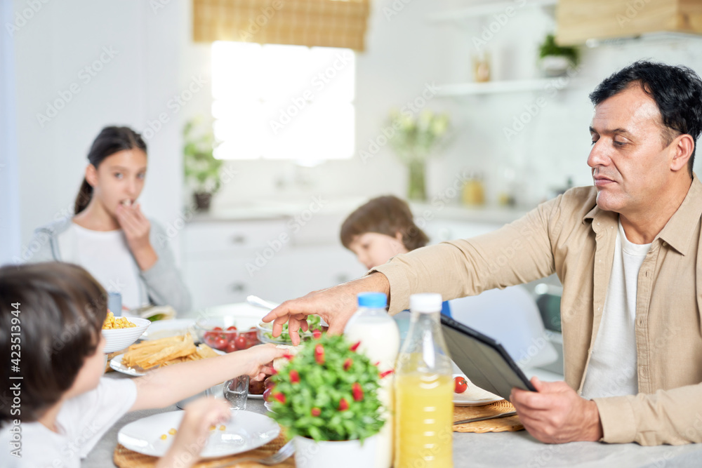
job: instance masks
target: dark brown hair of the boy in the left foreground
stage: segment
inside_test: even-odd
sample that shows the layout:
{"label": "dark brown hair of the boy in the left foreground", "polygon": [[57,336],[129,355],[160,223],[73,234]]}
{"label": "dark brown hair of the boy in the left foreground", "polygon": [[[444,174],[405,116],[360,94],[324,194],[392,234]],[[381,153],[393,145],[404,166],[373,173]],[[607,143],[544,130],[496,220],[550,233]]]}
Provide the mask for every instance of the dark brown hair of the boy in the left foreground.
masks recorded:
{"label": "dark brown hair of the boy in the left foreground", "polygon": [[13,395],[3,390],[8,398],[0,401],[0,426],[15,419],[38,420],[73,385],[100,342],[106,297],[93,276],[77,265],[0,268],[0,356],[6,359],[0,382],[20,382],[22,401],[12,408]]}

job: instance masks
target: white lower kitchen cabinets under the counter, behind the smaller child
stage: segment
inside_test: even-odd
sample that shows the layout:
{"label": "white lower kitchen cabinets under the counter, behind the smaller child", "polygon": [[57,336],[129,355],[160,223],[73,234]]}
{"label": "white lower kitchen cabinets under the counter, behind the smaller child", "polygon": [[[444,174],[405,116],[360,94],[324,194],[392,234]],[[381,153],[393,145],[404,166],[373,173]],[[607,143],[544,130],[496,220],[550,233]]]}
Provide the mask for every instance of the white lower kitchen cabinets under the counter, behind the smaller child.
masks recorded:
{"label": "white lower kitchen cabinets under the counter, behind the smaller child", "polygon": [[[423,212],[421,206],[414,208],[415,213]],[[346,209],[318,213],[304,225],[295,215],[196,218],[183,229],[181,242],[183,276],[193,307],[243,302],[250,294],[282,302],[359,278],[365,267],[339,240],[347,213]],[[461,219],[465,215],[470,218]],[[438,243],[491,232],[518,215],[446,208],[423,229],[431,243]]]}

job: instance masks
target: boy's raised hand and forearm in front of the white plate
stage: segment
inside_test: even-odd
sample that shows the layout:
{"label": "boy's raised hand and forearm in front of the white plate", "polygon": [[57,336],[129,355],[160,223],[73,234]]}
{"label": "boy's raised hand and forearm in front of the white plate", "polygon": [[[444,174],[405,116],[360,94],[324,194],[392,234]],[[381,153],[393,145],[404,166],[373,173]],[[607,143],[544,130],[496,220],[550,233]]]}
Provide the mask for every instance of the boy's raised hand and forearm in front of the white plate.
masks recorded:
{"label": "boy's raised hand and forearm in front of the white plate", "polygon": [[224,400],[201,398],[187,405],[176,439],[156,467],[192,467],[207,443],[210,427],[226,422],[229,418],[229,404]]}

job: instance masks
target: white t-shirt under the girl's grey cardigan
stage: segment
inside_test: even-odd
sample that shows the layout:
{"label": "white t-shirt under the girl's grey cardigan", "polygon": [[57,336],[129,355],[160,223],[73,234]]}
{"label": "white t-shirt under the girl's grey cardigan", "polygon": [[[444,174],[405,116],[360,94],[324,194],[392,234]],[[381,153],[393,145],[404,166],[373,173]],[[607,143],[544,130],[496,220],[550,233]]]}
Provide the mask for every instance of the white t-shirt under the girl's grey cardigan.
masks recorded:
{"label": "white t-shirt under the girl's grey cardigan", "polygon": [[[64,262],[84,267],[105,290],[120,293],[122,307],[142,306],[139,265],[129,250],[124,232],[93,231],[72,222],[58,236],[58,248]],[[121,311],[112,311],[121,315]]]}

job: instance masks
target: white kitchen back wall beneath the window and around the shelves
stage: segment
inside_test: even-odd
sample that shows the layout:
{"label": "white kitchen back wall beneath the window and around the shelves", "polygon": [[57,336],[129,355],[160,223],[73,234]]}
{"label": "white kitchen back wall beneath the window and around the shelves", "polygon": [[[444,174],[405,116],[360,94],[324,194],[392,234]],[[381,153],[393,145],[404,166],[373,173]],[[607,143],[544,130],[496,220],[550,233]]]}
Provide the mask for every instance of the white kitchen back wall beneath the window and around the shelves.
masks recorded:
{"label": "white kitchen back wall beneath the window and around the shelves", "polygon": [[[382,135],[389,110],[416,98],[425,83],[472,81],[471,58],[476,53],[473,38],[479,37],[495,18],[456,23],[432,23],[428,19],[430,13],[470,3],[374,1],[366,51],[357,58],[354,158],[297,169],[292,163],[233,162],[239,178],[218,194],[216,206],[246,203],[259,197],[303,198],[310,193],[404,196],[406,169],[389,147],[382,147],[367,163],[362,163],[359,152],[368,150],[369,140]],[[388,20],[388,8],[397,4],[404,4],[404,8]],[[486,46],[491,54],[493,79],[540,77],[538,45],[554,29],[552,10],[517,9],[517,14],[501,25]],[[569,177],[576,185],[590,185],[590,171],[585,163],[592,118],[588,94],[605,76],[642,58],[683,64],[702,73],[700,46],[702,39],[681,39],[583,48],[580,71],[571,79],[571,86],[555,95],[539,90],[431,100],[428,107],[451,113],[454,135],[444,154],[430,161],[430,198],[444,192],[457,174],[466,169],[484,173],[489,203],[496,203],[498,192],[506,190],[517,194],[522,206],[534,206],[548,198],[552,189],[564,187]],[[515,116],[542,96],[546,99],[545,107],[508,141],[504,129],[511,128]],[[505,174],[505,168],[511,168],[512,179],[509,173]],[[296,176],[305,180],[304,187],[291,183]],[[286,182],[282,188],[277,187],[281,180]],[[458,203],[458,198],[453,203]]]}

